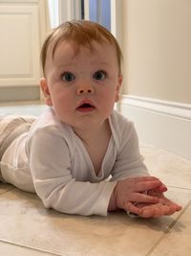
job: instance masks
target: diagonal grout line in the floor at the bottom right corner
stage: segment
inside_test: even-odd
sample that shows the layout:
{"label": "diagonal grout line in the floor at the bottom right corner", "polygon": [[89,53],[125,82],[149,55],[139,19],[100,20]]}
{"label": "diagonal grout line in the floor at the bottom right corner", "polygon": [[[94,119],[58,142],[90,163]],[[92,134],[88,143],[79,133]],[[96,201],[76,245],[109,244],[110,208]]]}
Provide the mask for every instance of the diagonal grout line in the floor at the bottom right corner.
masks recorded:
{"label": "diagonal grout line in the floor at the bottom right corner", "polygon": [[161,237],[159,238],[159,240],[153,244],[151,246],[151,248],[149,249],[149,251],[145,254],[145,256],[151,256],[152,253],[154,252],[154,250],[157,248],[157,246],[161,243],[161,241],[165,238],[165,236],[172,230],[172,228],[175,226],[175,224],[180,220],[181,216],[184,214],[184,212],[187,210],[187,208],[191,205],[191,199],[188,201],[188,203],[186,204],[186,206],[182,209],[182,211],[180,212],[180,215],[178,216],[178,218],[174,221],[172,221],[168,228],[164,231],[164,233],[161,235]]}

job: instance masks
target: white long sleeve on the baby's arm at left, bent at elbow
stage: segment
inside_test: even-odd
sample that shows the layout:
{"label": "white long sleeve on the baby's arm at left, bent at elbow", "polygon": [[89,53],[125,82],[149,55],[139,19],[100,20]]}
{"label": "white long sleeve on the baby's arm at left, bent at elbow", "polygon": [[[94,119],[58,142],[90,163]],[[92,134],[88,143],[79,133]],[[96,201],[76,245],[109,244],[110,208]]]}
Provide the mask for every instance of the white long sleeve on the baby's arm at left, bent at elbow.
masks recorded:
{"label": "white long sleeve on the baby's arm at left, bent at elbow", "polygon": [[34,188],[47,208],[68,214],[107,215],[116,182],[76,180],[71,169],[73,156],[57,131],[36,131],[29,153]]}

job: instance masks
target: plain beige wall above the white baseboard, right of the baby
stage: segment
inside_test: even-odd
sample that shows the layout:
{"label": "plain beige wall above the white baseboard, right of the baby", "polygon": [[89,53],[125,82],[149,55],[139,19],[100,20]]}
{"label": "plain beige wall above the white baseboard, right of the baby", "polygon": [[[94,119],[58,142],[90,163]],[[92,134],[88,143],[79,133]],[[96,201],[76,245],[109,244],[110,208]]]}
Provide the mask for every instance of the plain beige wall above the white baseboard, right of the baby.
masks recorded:
{"label": "plain beige wall above the white baseboard, right of the baby", "polygon": [[191,1],[123,0],[124,93],[191,104]]}

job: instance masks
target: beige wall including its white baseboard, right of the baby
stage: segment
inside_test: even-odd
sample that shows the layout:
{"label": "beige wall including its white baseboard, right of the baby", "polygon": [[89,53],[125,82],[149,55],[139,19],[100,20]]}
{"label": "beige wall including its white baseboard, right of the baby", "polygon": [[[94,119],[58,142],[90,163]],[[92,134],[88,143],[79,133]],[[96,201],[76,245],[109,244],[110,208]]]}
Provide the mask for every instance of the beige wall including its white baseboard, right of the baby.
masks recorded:
{"label": "beige wall including its white baseboard, right of the baby", "polygon": [[120,111],[140,144],[191,159],[191,1],[122,0]]}

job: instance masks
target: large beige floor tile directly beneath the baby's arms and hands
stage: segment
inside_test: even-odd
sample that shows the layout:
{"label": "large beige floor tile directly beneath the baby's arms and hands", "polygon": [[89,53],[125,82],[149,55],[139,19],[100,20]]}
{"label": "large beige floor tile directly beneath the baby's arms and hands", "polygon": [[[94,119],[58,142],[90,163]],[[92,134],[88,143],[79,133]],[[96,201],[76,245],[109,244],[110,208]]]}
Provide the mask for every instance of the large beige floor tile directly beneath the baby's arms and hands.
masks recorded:
{"label": "large beige floor tile directly beneath the baby's arms and hands", "polygon": [[[172,190],[185,205],[190,195]],[[46,210],[32,194],[13,190],[0,197],[0,240],[69,256],[142,256],[178,218],[131,220],[125,213],[80,217]]]}

